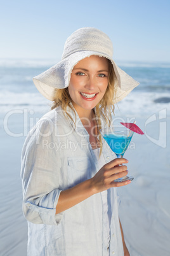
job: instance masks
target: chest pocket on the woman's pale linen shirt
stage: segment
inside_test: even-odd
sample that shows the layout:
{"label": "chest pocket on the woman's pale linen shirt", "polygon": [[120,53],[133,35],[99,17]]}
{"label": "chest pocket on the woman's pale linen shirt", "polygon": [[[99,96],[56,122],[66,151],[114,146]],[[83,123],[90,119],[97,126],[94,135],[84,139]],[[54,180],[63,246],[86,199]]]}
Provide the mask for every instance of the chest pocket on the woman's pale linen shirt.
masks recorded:
{"label": "chest pocket on the woman's pale linen shirt", "polygon": [[68,157],[68,185],[70,187],[87,180],[91,173],[91,162],[88,157]]}

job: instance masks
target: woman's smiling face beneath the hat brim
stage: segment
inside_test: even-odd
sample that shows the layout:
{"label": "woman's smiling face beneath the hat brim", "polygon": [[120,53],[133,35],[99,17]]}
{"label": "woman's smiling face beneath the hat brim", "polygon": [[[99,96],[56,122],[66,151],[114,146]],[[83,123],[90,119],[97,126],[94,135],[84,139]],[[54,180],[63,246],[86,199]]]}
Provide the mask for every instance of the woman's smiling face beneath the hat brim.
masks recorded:
{"label": "woman's smiling face beneath the hat brim", "polygon": [[69,94],[75,110],[92,110],[103,98],[108,86],[108,60],[91,55],[72,70]]}

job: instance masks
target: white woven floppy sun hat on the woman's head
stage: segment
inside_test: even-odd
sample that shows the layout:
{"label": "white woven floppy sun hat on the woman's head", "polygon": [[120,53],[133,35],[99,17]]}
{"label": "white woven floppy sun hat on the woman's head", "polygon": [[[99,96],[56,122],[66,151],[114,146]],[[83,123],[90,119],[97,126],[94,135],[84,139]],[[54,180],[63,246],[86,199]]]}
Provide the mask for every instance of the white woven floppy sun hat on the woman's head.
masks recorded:
{"label": "white woven floppy sun hat on the woman's head", "polygon": [[70,75],[74,66],[91,55],[105,57],[112,62],[117,83],[115,83],[114,103],[121,101],[138,82],[119,68],[114,60],[112,41],[107,34],[93,27],[82,27],[67,38],[62,60],[55,66],[33,78],[33,82],[41,94],[50,101],[55,100],[55,90],[69,86]]}

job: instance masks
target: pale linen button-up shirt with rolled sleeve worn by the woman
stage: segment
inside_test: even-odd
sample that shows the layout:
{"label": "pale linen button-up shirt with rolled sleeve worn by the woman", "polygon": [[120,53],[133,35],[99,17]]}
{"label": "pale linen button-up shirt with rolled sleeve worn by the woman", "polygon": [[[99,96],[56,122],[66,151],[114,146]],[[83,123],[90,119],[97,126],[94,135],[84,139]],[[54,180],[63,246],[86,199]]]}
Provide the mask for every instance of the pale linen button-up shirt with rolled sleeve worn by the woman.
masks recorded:
{"label": "pale linen button-up shirt with rolled sleeve worn by the woman", "polygon": [[[67,110],[68,111],[68,110]],[[73,111],[70,115],[75,119]],[[115,154],[103,140],[105,162]],[[29,132],[22,150],[23,213],[28,220],[28,256],[124,255],[116,188],[105,199],[95,194],[55,215],[60,192],[93,177],[100,169],[89,134],[76,113],[76,126],[62,108],[49,111]],[[105,199],[104,199],[105,198]]]}

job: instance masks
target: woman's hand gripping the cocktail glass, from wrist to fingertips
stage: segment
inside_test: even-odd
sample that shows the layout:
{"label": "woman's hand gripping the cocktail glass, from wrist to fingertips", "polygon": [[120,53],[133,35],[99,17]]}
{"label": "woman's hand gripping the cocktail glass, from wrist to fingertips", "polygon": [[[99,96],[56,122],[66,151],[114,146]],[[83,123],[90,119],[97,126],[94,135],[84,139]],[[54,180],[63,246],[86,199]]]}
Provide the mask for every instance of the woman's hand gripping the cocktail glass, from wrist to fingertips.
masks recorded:
{"label": "woman's hand gripping the cocktail glass, from wrist to fingertips", "polygon": [[126,176],[128,174],[127,166],[119,166],[119,164],[127,163],[128,160],[124,158],[117,158],[108,162],[108,164],[105,164],[98,171],[98,173],[96,173],[95,176],[91,178],[92,186],[93,188],[95,188],[96,193],[107,190],[111,187],[122,187],[131,183],[130,180],[114,182],[114,180],[122,178],[123,176]]}

